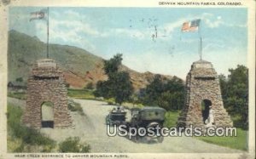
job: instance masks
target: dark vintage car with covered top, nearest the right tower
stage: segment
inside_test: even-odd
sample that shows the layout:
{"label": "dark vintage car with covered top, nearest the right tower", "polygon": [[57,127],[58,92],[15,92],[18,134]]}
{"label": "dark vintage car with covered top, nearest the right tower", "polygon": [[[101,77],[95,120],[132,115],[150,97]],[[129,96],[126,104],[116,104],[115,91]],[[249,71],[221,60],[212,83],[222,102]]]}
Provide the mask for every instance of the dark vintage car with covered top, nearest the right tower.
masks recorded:
{"label": "dark vintage car with covered top, nearest the right tower", "polygon": [[[143,107],[141,110],[131,110],[131,121],[127,122],[128,128],[156,128],[157,126],[162,128],[165,122],[166,110],[160,107]],[[156,132],[154,132],[156,133]],[[146,140],[150,142],[152,140],[157,140],[159,143],[163,142],[162,136],[154,135],[153,137],[140,137],[135,136],[132,140],[139,142],[140,140]]]}

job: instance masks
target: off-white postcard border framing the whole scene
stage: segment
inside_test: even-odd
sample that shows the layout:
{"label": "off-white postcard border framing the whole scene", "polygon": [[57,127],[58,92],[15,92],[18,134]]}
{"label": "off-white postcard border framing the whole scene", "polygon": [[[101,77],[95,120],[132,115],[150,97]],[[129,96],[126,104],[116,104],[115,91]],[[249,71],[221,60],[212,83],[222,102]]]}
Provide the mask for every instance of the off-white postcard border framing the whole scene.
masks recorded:
{"label": "off-white postcard border framing the whole scene", "polygon": [[[185,2],[163,0],[164,2]],[[13,0],[6,6],[0,3],[0,158],[13,158],[14,154],[7,152],[7,139],[6,139],[6,110],[7,110],[7,38],[8,38],[8,13],[10,6],[55,6],[55,7],[151,7],[151,8],[247,8],[248,10],[248,55],[247,67],[249,68],[249,153],[247,154],[226,154],[226,153],[127,153],[129,158],[254,158],[255,157],[255,1],[253,0],[194,0],[189,2],[241,2],[242,6],[170,6],[158,5],[161,0]],[[172,146],[172,145],[170,145]],[[26,153],[24,153],[26,154]],[[94,154],[94,153],[93,153]],[[101,153],[104,154],[104,153]],[[109,153],[107,153],[109,155]],[[17,157],[16,157],[17,158]],[[48,157],[49,158],[49,157]]]}

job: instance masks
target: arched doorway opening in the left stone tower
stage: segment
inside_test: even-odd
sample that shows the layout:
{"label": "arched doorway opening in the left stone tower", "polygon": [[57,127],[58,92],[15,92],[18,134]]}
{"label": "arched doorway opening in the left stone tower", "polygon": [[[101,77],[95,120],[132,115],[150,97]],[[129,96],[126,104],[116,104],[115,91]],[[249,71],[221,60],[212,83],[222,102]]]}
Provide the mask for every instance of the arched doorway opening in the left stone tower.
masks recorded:
{"label": "arched doorway opening in the left stone tower", "polygon": [[41,105],[42,128],[54,128],[54,104],[46,101]]}

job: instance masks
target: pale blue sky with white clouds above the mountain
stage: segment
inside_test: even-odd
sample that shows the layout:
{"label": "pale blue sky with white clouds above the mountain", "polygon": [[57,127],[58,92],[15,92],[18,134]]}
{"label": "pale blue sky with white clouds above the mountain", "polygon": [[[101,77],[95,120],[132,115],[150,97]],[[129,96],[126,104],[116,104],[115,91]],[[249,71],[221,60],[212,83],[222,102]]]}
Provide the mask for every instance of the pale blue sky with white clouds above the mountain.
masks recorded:
{"label": "pale blue sky with white clouds above the mountain", "polygon": [[[46,42],[46,20],[29,21],[41,9],[11,7],[9,30]],[[199,31],[181,32],[184,22],[196,19]],[[140,72],[185,79],[200,59],[199,37],[202,59],[218,74],[247,65],[247,9],[49,8],[49,43],[84,48],[106,60],[123,54],[123,64]]]}

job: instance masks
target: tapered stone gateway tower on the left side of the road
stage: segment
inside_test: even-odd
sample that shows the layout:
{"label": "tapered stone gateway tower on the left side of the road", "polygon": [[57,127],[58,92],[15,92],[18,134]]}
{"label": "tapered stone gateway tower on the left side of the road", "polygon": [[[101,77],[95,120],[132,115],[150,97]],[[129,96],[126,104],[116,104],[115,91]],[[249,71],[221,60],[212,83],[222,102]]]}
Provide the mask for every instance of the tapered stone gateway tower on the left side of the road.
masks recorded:
{"label": "tapered stone gateway tower on the left side of the road", "polygon": [[66,83],[54,60],[38,60],[32,68],[32,75],[27,81],[26,111],[22,122],[32,128],[72,126],[67,109]]}

